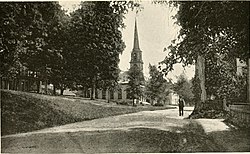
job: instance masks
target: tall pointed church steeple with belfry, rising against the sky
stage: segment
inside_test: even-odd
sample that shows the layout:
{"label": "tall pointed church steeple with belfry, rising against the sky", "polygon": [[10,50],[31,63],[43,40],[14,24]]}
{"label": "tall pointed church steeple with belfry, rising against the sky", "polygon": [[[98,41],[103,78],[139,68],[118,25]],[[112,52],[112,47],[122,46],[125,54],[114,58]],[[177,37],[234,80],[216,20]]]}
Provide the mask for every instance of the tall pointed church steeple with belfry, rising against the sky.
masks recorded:
{"label": "tall pointed church steeple with belfry, rising against the sky", "polygon": [[142,51],[140,50],[140,47],[139,47],[139,38],[138,38],[136,19],[135,19],[135,31],[134,31],[134,47],[131,52],[130,69],[132,67],[136,67],[141,72],[143,72]]}

